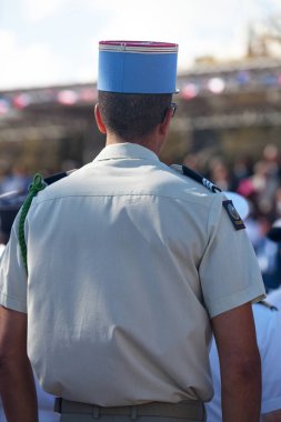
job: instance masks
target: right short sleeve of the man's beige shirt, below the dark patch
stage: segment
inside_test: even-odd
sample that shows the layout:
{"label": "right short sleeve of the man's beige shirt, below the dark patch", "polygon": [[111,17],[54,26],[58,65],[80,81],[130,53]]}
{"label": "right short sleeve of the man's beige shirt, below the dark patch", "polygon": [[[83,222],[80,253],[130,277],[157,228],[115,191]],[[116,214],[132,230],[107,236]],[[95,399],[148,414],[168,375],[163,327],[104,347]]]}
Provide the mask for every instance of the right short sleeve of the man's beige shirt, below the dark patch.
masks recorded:
{"label": "right short sleeve of the man's beige shirt, below the dark patch", "polygon": [[208,245],[199,267],[207,310],[211,318],[264,298],[258,261],[245,233],[235,230],[215,193],[208,223]]}

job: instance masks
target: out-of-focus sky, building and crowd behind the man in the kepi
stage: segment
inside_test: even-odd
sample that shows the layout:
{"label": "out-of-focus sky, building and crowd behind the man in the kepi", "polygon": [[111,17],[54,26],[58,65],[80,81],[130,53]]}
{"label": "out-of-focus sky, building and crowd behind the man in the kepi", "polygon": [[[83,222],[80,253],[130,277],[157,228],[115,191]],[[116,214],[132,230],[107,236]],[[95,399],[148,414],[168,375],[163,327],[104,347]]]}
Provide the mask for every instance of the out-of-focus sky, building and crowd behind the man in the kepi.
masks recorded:
{"label": "out-of-focus sky, building and crowd behind the man in the kepi", "polygon": [[281,218],[280,0],[1,0],[0,193],[103,147],[93,121],[102,39],[180,44],[179,108],[161,158],[249,200],[249,235],[280,283],[280,250],[265,238]]}

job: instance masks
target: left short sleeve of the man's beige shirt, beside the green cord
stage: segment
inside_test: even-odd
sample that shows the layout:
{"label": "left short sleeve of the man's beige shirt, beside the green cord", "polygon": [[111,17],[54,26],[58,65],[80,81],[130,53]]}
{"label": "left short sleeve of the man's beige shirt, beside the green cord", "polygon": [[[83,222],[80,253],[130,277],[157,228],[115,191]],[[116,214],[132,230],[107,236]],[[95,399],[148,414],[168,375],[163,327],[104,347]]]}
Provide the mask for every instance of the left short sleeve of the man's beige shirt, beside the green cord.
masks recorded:
{"label": "left short sleeve of the man's beige shirt, beside the green cord", "polygon": [[10,240],[0,261],[0,304],[18,312],[27,312],[27,273],[22,264],[18,240],[17,215]]}

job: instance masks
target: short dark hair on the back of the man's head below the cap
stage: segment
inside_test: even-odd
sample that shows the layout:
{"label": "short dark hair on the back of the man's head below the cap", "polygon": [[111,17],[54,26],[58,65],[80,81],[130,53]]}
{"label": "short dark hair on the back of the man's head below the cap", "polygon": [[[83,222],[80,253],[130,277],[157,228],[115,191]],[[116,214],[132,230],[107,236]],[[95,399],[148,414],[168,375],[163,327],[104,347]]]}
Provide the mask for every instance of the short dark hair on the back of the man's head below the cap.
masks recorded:
{"label": "short dark hair on the back of the man's head below the cap", "polygon": [[99,109],[109,131],[132,142],[148,135],[165,115],[172,94],[99,91]]}

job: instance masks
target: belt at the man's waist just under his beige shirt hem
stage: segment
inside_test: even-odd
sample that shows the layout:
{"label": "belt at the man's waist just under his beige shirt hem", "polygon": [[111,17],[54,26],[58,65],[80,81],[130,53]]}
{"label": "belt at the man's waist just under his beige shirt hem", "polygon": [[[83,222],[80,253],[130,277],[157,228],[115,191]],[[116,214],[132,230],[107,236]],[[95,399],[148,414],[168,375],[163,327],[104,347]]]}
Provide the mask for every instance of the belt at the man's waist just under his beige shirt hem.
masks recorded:
{"label": "belt at the man's waist just under his beige shirt hem", "polygon": [[181,401],[179,403],[149,402],[137,405],[103,408],[96,404],[56,399],[54,411],[58,413],[84,413],[93,419],[100,415],[122,415],[132,420],[138,416],[165,416],[204,421],[204,405],[198,401]]}

